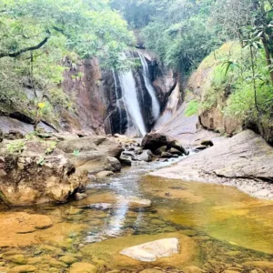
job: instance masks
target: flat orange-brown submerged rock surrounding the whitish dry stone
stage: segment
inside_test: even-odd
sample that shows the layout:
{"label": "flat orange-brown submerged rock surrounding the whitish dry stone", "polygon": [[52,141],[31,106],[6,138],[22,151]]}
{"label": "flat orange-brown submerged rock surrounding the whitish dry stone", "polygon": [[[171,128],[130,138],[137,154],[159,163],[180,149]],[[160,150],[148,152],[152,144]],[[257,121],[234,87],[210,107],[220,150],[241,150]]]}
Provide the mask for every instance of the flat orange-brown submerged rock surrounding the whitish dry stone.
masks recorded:
{"label": "flat orange-brown submerged rock surrounding the whitish dry stone", "polygon": [[[107,268],[119,268],[121,272],[135,272],[136,268],[144,268],[144,265],[147,267],[147,262],[143,262],[135,258],[130,258],[126,255],[120,254],[120,252],[126,248],[132,248],[134,246],[139,246],[149,242],[168,238],[174,239],[174,245],[180,245],[177,253],[173,253],[170,257],[167,258],[156,258],[154,261],[149,261],[148,267],[162,268],[162,266],[166,266],[167,262],[167,265],[171,265],[172,268],[182,269],[198,257],[199,248],[197,247],[197,243],[193,239],[188,238],[185,235],[181,235],[179,232],[156,235],[135,235],[127,236],[124,238],[107,239],[100,242],[99,244],[87,245],[82,248],[81,251],[84,255],[92,256],[94,260],[100,260],[100,262]],[[177,248],[174,247],[175,252],[176,249]],[[158,255],[164,255],[164,253],[166,253],[165,251],[159,252],[158,249],[155,249],[155,251]],[[172,251],[170,250],[169,253],[171,252]],[[153,259],[154,258],[155,256]]]}

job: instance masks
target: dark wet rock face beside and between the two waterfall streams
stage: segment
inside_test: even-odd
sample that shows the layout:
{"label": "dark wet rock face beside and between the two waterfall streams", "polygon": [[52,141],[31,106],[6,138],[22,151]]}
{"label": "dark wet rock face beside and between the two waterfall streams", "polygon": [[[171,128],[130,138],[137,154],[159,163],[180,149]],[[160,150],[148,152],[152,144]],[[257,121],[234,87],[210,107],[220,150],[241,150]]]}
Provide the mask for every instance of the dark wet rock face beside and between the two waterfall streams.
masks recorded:
{"label": "dark wet rock face beside and between the two waterfall streams", "polygon": [[[177,76],[171,69],[165,66],[157,64],[155,58],[145,51],[131,51],[127,53],[127,57],[139,58],[139,54],[143,56],[142,61],[147,63],[148,79],[150,81],[150,87],[155,88],[155,95],[160,105],[160,111],[166,106],[168,97],[172,92],[174,86],[177,85]],[[140,106],[140,114],[143,118],[143,122],[147,131],[149,131],[156,122],[156,118],[153,115],[152,105],[153,100],[147,90],[146,80],[144,73],[145,68],[143,66],[136,67],[133,71],[133,86],[136,86],[137,101]],[[132,123],[135,116],[132,116],[128,110],[128,105],[125,99],[124,83],[122,77],[118,73],[107,72],[107,113],[109,115],[106,118],[106,134],[119,133],[137,135],[138,129],[135,124]]]}

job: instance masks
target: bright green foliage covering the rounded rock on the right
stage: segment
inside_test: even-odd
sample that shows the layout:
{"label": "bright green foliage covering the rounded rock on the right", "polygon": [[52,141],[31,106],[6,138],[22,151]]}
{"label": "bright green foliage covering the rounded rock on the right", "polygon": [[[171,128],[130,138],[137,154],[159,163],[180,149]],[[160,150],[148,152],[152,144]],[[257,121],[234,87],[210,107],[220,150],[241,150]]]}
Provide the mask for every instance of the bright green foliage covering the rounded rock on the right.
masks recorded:
{"label": "bright green foliage covering the rounded rock on the right", "polygon": [[[273,116],[273,93],[268,67],[265,66],[266,56],[263,49],[258,49],[256,54],[254,66],[258,106],[263,116],[270,119]],[[231,116],[242,123],[257,122],[260,113],[255,105],[251,67],[249,47],[241,48],[238,43],[227,43],[207,56],[197,70],[197,73],[204,69],[210,70],[202,84],[201,110],[217,106],[225,116]]]}

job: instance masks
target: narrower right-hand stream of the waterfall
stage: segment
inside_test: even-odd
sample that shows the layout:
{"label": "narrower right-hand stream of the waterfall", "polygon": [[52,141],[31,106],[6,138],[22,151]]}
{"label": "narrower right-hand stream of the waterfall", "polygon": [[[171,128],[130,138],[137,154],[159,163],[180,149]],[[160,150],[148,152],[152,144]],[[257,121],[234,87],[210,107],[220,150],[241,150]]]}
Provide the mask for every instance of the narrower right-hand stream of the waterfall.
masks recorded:
{"label": "narrower right-hand stream of the waterfall", "polygon": [[147,61],[146,61],[145,56],[143,56],[140,52],[137,52],[137,53],[138,53],[138,56],[140,58],[141,65],[143,68],[143,77],[144,77],[144,81],[145,81],[145,86],[147,88],[148,94],[151,96],[151,99],[152,99],[152,113],[153,113],[155,120],[157,120],[157,118],[160,116],[160,106],[159,106],[159,102],[157,100],[155,88],[154,88],[154,86],[152,86],[152,83],[151,83],[151,80],[149,77],[149,70],[148,70]]}

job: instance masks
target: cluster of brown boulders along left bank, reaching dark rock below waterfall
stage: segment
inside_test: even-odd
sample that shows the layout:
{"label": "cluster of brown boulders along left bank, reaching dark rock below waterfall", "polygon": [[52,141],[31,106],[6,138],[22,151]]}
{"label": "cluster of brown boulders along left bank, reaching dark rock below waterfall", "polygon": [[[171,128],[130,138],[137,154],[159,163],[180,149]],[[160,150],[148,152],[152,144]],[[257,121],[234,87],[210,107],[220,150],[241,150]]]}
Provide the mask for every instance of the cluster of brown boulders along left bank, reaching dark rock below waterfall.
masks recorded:
{"label": "cluster of brown boulders along left bank, reaching dark rock below waterfall", "polygon": [[119,135],[35,133],[24,137],[10,132],[1,136],[0,200],[10,206],[82,199],[88,177],[109,177],[133,161],[187,155],[177,141],[159,134],[147,134],[141,144]]}

